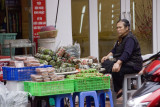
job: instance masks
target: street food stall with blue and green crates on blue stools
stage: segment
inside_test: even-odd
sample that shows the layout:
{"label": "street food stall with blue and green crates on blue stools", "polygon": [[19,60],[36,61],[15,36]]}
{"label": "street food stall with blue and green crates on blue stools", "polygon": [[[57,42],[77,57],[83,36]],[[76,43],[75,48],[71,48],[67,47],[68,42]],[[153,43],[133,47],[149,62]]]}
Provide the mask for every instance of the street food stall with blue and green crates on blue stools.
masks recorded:
{"label": "street food stall with blue and green crates on blue stools", "polygon": [[[15,107],[27,106],[26,102],[30,102],[31,107],[50,106],[53,103],[50,99],[54,99],[55,106],[60,107],[64,106],[61,99],[66,97],[70,100],[69,106],[72,107],[77,95],[80,107],[84,106],[85,97],[86,103],[90,104],[90,96],[99,107],[99,104],[105,106],[104,99],[107,93],[113,106],[110,76],[99,73],[100,68],[101,65],[95,57],[80,58],[78,43],[60,46],[57,49],[38,47],[34,56],[13,56],[9,64],[2,67],[3,80],[7,81],[4,94],[7,91],[17,92],[16,95],[19,96],[19,93],[24,92],[23,96],[19,97],[27,97],[27,100],[17,100],[16,104],[19,105],[14,105]],[[100,99],[103,101],[99,102]],[[3,100],[7,105],[6,94]],[[45,100],[45,103],[42,100]],[[41,103],[38,103],[39,101]]]}

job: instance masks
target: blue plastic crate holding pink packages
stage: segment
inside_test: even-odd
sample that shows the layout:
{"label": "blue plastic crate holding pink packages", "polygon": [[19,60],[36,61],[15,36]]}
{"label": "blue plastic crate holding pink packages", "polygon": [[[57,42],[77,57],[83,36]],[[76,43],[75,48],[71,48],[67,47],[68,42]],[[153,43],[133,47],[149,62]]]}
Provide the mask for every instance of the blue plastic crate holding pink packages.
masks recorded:
{"label": "blue plastic crate holding pink packages", "polygon": [[35,67],[2,67],[3,79],[11,81],[29,81],[31,80],[30,75],[36,74],[36,68],[47,68],[52,67],[51,65],[35,66]]}

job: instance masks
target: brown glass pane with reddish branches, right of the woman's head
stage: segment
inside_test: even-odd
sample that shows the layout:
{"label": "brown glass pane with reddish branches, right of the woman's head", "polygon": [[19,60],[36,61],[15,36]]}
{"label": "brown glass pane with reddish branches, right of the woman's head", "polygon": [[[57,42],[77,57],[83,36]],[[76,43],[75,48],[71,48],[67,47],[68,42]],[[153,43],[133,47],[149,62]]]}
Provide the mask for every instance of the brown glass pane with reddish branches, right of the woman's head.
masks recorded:
{"label": "brown glass pane with reddish branches, right of the woman's head", "polygon": [[139,40],[142,54],[153,52],[152,0],[131,0],[131,28]]}

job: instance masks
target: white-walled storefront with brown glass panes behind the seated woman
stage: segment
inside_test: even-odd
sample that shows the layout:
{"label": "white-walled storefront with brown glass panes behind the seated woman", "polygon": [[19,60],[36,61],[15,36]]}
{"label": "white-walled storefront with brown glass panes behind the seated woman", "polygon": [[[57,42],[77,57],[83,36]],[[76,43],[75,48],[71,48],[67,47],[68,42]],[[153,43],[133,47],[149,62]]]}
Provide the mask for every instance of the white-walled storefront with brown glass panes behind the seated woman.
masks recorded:
{"label": "white-walled storefront with brown glass panes behind the seated woman", "polygon": [[[57,2],[58,0],[47,1],[47,24],[54,24]],[[158,5],[158,0],[60,1],[57,40],[62,40],[65,44],[68,42],[66,40],[71,41],[73,37],[73,42],[78,41],[81,44],[82,56],[90,54],[101,58],[114,45],[115,26],[121,17],[130,20],[131,29],[140,41],[142,54],[155,53],[160,50]],[[63,34],[67,38],[59,39]]]}

